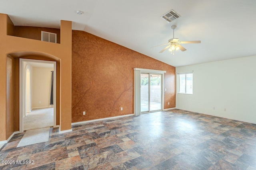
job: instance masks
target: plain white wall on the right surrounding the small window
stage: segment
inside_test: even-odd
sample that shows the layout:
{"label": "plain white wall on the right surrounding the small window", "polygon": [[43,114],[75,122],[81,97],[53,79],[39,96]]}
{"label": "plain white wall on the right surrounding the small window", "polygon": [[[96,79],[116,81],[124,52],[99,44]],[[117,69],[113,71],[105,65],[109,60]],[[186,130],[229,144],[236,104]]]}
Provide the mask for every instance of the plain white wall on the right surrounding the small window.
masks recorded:
{"label": "plain white wall on the right surrounding the small window", "polygon": [[193,94],[176,90],[177,109],[256,123],[256,56],[176,67],[191,71]]}

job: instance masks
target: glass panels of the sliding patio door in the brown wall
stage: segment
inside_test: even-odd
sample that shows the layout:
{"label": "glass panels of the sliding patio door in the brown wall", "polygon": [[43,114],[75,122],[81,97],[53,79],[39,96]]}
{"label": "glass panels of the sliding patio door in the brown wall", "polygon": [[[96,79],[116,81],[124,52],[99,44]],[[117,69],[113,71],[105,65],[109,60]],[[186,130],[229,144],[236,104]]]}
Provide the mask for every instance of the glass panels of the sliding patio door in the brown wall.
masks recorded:
{"label": "glass panels of the sliding patio door in the brown wall", "polygon": [[162,109],[162,74],[140,74],[140,109],[142,113]]}

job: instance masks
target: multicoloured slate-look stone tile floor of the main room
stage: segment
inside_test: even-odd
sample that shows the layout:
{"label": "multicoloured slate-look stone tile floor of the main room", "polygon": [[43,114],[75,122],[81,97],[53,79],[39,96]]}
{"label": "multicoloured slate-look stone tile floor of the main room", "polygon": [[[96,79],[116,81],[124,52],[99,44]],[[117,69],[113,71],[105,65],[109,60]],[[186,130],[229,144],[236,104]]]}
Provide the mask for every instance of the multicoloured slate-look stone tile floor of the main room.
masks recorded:
{"label": "multicoloured slate-look stone tile floor of the main room", "polygon": [[45,143],[16,148],[16,134],[0,151],[0,169],[256,170],[256,125],[172,109],[50,129]]}

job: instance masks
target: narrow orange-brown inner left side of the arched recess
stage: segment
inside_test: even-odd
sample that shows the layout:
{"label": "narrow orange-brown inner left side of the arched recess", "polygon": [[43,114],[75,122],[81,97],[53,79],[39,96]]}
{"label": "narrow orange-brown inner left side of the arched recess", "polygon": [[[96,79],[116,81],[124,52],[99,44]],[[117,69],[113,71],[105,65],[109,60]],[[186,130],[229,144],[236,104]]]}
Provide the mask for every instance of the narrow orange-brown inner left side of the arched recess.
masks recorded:
{"label": "narrow orange-brown inner left side of the arched recess", "polygon": [[6,57],[6,136],[14,132],[14,59]]}

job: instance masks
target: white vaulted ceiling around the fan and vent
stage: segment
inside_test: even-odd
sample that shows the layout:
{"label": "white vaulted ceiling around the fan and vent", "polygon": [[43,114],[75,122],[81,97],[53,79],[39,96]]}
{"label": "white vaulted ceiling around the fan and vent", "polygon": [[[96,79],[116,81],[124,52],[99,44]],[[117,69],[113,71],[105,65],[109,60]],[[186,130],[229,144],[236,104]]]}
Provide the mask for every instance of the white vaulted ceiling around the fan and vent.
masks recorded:
{"label": "white vaulted ceiling around the fan and vent", "polygon": [[[180,18],[170,23],[160,16],[175,10]],[[82,10],[84,14],[77,15]],[[14,25],[84,30],[173,66],[256,55],[256,0],[2,0],[0,13]],[[187,51],[158,53],[154,47],[172,38],[177,25]]]}

